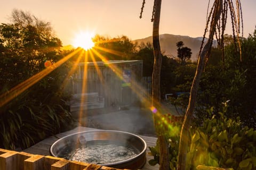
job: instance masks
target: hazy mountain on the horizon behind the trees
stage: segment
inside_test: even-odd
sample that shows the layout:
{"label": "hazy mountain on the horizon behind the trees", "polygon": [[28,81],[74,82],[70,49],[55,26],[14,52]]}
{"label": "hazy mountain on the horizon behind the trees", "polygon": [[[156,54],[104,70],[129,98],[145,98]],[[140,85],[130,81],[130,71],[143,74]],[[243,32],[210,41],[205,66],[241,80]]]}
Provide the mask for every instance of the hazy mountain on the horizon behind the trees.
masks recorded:
{"label": "hazy mountain on the horizon behind the trees", "polygon": [[[171,35],[171,34],[165,33],[165,34],[159,35],[159,40],[160,40],[162,53],[164,55],[171,56],[171,57],[177,56],[176,43],[178,41],[183,41],[184,47],[188,47],[191,49],[191,52],[192,52],[191,60],[197,61],[197,57],[198,57],[198,53],[201,47],[203,37],[192,38],[189,36],[178,36],[178,35]],[[207,38],[205,38],[204,41],[206,40]],[[150,36],[143,39],[133,40],[133,42],[138,43],[138,45],[140,45],[140,43],[142,42],[145,44],[148,42],[153,43],[153,38],[152,36]],[[217,41],[214,40],[213,46],[217,46]]]}

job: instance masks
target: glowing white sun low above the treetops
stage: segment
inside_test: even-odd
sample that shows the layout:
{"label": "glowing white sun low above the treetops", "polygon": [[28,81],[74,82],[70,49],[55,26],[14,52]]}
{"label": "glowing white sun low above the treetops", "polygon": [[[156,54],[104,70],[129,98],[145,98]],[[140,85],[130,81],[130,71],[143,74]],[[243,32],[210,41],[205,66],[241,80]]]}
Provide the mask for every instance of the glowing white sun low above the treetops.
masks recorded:
{"label": "glowing white sun low above the treetops", "polygon": [[92,32],[80,32],[77,33],[73,40],[73,46],[74,47],[81,47],[85,50],[89,50],[92,47],[94,47],[94,43],[92,41],[92,38],[94,37],[94,34]]}

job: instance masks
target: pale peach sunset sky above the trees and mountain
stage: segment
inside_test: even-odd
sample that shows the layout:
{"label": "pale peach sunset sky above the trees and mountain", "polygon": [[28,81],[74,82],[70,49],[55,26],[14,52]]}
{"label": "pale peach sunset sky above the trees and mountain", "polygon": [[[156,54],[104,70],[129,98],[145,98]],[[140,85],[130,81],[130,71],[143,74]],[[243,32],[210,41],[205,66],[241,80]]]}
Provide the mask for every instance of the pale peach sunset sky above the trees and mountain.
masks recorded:
{"label": "pale peach sunset sky above the trees and mountain", "polygon": [[[0,23],[10,23],[12,10],[17,8],[50,22],[63,45],[72,44],[76,34],[82,31],[110,38],[124,35],[135,40],[152,35],[153,2],[146,0],[140,19],[142,0],[2,0]],[[159,33],[202,37],[208,2],[162,0]],[[256,25],[256,0],[241,0],[241,3],[244,37],[247,37]],[[226,33],[231,34],[229,26]]]}

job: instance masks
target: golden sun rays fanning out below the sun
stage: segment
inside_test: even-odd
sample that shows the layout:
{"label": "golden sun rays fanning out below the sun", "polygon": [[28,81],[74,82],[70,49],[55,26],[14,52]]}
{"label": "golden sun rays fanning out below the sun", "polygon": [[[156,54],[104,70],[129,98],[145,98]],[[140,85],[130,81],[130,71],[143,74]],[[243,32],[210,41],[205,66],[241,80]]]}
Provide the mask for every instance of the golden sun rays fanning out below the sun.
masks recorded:
{"label": "golden sun rays fanning out below the sun", "polygon": [[[83,81],[82,81],[82,94],[85,94],[87,92],[87,83],[86,83],[86,79],[87,79],[87,71],[88,71],[88,64],[89,63],[89,59],[90,63],[92,63],[94,65],[94,68],[98,74],[98,78],[99,78],[99,82],[103,83],[104,81],[104,75],[102,74],[102,71],[100,70],[100,66],[99,66],[99,62],[97,60],[101,60],[101,63],[103,63],[103,65],[107,65],[107,67],[109,67],[109,69],[111,71],[113,71],[116,74],[116,77],[119,79],[119,81],[124,81],[124,75],[123,75],[123,71],[122,69],[120,69],[118,66],[115,65],[115,62],[109,62],[108,58],[101,54],[101,52],[105,52],[105,53],[109,53],[109,54],[113,54],[113,55],[117,55],[119,57],[122,57],[123,54],[121,52],[117,52],[115,50],[111,50],[111,49],[107,49],[107,48],[103,48],[103,47],[99,47],[99,46],[95,46],[94,48],[91,49],[85,49],[85,48],[77,48],[74,49],[73,52],[71,52],[70,54],[68,54],[67,56],[63,57],[61,60],[59,60],[56,63],[45,63],[45,69],[37,74],[35,74],[33,77],[21,82],[20,84],[18,84],[17,86],[15,86],[14,88],[12,88],[11,90],[9,90],[8,92],[5,92],[4,94],[0,95],[0,107],[2,107],[3,105],[9,103],[12,99],[14,99],[15,97],[17,97],[18,95],[22,94],[22,92],[26,91],[27,89],[29,89],[31,86],[33,86],[34,84],[36,84],[38,81],[42,80],[44,77],[46,77],[48,74],[50,74],[52,71],[54,71],[55,69],[57,69],[59,66],[61,66],[63,63],[67,62],[68,60],[70,60],[71,58],[73,58],[74,56],[77,56],[77,58],[73,63],[73,66],[70,67],[69,73],[67,74],[67,77],[65,78],[65,80],[62,82],[60,90],[65,89],[65,86],[67,86],[67,84],[70,81],[70,78],[75,74],[75,72],[78,69],[78,63],[84,63],[83,66]],[[98,59],[96,59],[98,58]],[[118,61],[116,61],[118,62]],[[143,87],[141,86],[141,83],[137,82],[137,81],[132,81],[132,84],[130,86],[131,91],[136,94],[138,96],[138,98],[140,99],[140,101],[143,102],[143,104],[147,107],[150,107],[151,105],[151,98],[146,98],[143,95]],[[83,101],[86,101],[86,97],[83,96],[81,97],[81,104],[83,103]],[[150,108],[148,108],[150,109]],[[162,117],[161,111],[159,111],[160,109],[155,108],[155,107],[151,107],[151,111],[153,112],[153,114],[156,114],[157,116],[161,117],[161,122],[159,122],[159,126],[166,126],[167,124],[170,124],[170,122],[168,121],[168,118],[166,117]],[[81,121],[81,118],[84,116],[84,112],[82,109],[79,110],[79,121]],[[177,131],[175,130],[175,127],[173,129],[172,126],[168,126],[169,130],[172,131]]]}

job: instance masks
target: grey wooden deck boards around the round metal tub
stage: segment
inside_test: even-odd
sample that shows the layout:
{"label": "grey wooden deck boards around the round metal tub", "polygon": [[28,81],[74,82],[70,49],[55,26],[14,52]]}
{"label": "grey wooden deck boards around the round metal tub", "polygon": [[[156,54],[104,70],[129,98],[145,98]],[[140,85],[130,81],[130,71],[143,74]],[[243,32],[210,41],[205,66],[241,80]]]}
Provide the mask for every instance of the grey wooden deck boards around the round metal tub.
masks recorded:
{"label": "grey wooden deck boards around the round metal tub", "polygon": [[[70,130],[70,131],[67,131],[67,132],[63,132],[63,133],[59,133],[57,135],[54,135],[52,137],[49,137],[49,138],[41,141],[41,142],[38,142],[34,146],[32,146],[30,148],[27,148],[27,149],[25,149],[23,151],[27,152],[29,154],[47,156],[47,155],[50,155],[50,147],[51,147],[51,145],[55,141],[57,141],[58,139],[60,139],[62,137],[65,137],[66,135],[76,133],[76,132],[90,131],[90,130],[99,130],[99,129],[93,129],[93,128],[86,128],[86,127],[78,126],[77,128],[75,128],[73,130]],[[147,137],[147,136],[144,136],[144,135],[139,135],[139,136],[146,141],[148,147],[155,146],[157,138],[155,138],[155,137]],[[149,149],[147,149],[147,153],[148,152],[150,152]],[[146,154],[147,161],[146,161],[145,166],[143,166],[143,168],[142,168],[143,170],[156,170],[156,169],[159,169],[158,165],[151,166],[151,165],[148,164],[148,160],[150,160],[152,158],[153,158],[153,156],[150,156],[150,155]]]}

